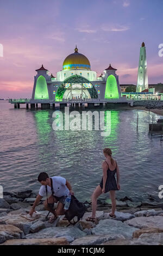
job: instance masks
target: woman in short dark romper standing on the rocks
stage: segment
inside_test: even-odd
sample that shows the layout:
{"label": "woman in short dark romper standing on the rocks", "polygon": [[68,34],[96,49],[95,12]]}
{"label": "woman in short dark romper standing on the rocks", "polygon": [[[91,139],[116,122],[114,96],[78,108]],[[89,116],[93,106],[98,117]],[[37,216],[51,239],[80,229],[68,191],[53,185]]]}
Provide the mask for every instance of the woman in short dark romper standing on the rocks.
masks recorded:
{"label": "woman in short dark romper standing on the rocks", "polygon": [[[120,172],[117,165],[117,162],[112,158],[111,149],[105,148],[103,150],[105,161],[102,163],[103,169],[103,178],[100,184],[96,187],[95,191],[92,194],[92,216],[86,218],[86,221],[92,221],[96,224],[98,220],[96,218],[96,208],[97,208],[97,198],[102,194],[110,191],[111,198],[111,212],[110,217],[115,218],[115,210],[116,210],[116,199],[115,199],[115,191],[120,190]],[[117,175],[117,182],[115,179],[115,173]]]}

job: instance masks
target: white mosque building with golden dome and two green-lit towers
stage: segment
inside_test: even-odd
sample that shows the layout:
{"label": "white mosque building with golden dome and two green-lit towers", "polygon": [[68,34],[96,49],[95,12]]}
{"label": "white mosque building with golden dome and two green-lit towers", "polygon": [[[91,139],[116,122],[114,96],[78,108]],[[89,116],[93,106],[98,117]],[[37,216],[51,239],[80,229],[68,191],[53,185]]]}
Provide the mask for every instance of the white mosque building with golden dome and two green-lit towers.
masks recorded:
{"label": "white mosque building with golden dome and two green-lit towers", "polygon": [[89,59],[74,49],[57,72],[57,77],[48,75],[48,70],[41,66],[36,69],[32,100],[70,101],[73,99],[119,99],[120,83],[115,68],[111,64],[101,76],[91,70]]}

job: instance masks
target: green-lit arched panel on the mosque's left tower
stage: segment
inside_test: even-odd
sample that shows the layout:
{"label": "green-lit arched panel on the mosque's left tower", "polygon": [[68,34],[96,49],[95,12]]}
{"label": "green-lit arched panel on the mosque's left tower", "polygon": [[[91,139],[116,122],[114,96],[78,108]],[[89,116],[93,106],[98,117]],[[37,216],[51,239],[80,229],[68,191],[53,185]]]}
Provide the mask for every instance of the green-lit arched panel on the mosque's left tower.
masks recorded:
{"label": "green-lit arched panel on the mosque's left tower", "polygon": [[36,82],[36,89],[35,89],[35,100],[40,99],[49,99],[47,83],[44,76],[39,76]]}

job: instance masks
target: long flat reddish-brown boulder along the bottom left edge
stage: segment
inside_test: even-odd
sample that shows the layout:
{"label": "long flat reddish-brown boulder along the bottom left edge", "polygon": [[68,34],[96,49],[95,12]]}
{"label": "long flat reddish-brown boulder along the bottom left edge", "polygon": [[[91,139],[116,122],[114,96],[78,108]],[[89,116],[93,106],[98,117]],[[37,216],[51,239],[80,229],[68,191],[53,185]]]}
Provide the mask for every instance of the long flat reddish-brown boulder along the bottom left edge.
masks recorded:
{"label": "long flat reddish-brown boulder along the bottom left edge", "polygon": [[2,245],[69,245],[67,239],[59,238],[43,238],[43,239],[17,239],[8,240]]}

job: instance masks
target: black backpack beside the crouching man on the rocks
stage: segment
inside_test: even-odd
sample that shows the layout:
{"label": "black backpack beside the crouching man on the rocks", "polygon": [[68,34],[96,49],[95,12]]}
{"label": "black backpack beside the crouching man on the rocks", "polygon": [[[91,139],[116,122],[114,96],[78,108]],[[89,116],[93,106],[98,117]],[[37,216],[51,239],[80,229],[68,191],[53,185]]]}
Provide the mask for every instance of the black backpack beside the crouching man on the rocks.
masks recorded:
{"label": "black backpack beside the crouching man on the rocks", "polygon": [[[71,195],[71,203],[70,203],[70,206],[69,206],[68,210],[65,213],[65,217],[70,222],[70,224],[74,225],[81,218],[83,218],[83,215],[85,214],[85,211],[86,211],[85,204],[79,202],[78,199],[75,196]],[[78,217],[78,221],[75,222],[73,220],[73,218],[76,217],[76,216]],[[71,222],[71,220],[73,220],[73,223]],[[70,224],[68,224],[67,227]]]}

